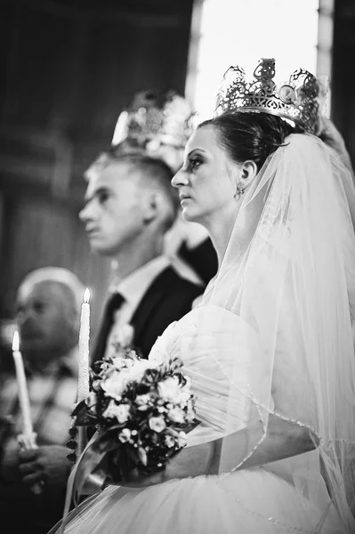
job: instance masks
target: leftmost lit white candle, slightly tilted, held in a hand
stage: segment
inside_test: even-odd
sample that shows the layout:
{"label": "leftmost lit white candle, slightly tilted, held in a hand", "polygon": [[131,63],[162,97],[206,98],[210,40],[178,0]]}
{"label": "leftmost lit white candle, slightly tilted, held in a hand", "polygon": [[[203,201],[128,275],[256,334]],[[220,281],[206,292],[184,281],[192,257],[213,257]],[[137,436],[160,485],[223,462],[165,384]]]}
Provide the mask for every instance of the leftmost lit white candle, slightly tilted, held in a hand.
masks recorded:
{"label": "leftmost lit white candle, slightly tilted, held in a hand", "polygon": [[16,330],[12,337],[12,356],[15,362],[17,384],[19,388],[20,409],[22,413],[22,433],[29,441],[33,437],[31,409],[28,397],[25,368],[23,367],[22,354],[20,353],[19,333]]}

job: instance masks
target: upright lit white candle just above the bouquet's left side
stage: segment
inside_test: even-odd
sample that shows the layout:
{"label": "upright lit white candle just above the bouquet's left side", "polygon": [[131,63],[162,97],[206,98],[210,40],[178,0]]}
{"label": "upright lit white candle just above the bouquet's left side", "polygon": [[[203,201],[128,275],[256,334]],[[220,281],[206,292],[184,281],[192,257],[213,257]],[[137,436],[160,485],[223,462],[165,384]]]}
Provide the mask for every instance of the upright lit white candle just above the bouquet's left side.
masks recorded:
{"label": "upright lit white candle just above the bouquet's left side", "polygon": [[77,377],[77,402],[83,401],[89,393],[89,338],[90,338],[90,291],[86,287],[84,303],[81,306],[79,332],[79,360]]}

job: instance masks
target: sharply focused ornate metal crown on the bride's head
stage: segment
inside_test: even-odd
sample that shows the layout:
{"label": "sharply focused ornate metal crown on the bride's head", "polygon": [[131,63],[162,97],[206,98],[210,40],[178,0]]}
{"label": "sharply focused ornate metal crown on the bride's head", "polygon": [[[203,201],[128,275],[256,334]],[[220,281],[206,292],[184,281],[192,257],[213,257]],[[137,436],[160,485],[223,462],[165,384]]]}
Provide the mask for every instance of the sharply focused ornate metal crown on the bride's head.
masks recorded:
{"label": "sharply focused ornate metal crown on the bride's head", "polygon": [[315,134],[319,118],[319,83],[308,70],[298,69],[284,83],[276,84],[275,60],[261,59],[254,80],[246,82],[245,71],[230,67],[222,78],[214,116],[225,111],[263,111],[303,126]]}

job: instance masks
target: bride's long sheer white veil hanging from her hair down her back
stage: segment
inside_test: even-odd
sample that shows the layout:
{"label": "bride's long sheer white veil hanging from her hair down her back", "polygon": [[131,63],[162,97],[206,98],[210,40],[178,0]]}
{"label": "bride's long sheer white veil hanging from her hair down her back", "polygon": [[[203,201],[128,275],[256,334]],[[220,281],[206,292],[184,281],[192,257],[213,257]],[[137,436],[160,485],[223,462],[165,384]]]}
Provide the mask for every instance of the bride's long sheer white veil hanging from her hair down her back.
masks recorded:
{"label": "bride's long sheer white veil hanging from her hair down her back", "polygon": [[[207,375],[195,381],[204,441],[261,422],[242,454],[233,441],[222,448],[221,471],[238,469],[260,447],[270,414],[309,428],[319,447],[274,462],[275,469],[319,506],[319,480],[327,485],[349,530],[355,509],[354,210],[352,177],[335,153],[313,135],[289,135],[246,190],[220,270],[198,305],[194,341],[198,359],[208,356],[215,367],[214,381]],[[208,346],[212,331],[221,333],[222,343]],[[180,343],[188,343],[183,330]],[[188,370],[192,378],[198,359]],[[214,394],[216,412],[204,392]]]}

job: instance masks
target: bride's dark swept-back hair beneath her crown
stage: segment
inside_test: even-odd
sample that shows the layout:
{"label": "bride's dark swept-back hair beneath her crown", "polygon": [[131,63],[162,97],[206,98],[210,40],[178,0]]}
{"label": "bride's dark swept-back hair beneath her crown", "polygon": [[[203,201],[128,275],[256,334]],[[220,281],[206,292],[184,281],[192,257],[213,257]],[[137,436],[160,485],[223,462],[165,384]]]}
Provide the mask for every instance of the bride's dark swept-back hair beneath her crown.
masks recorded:
{"label": "bride's dark swept-back hair beneath her crown", "polygon": [[216,128],[218,139],[232,161],[243,163],[250,159],[258,170],[270,154],[284,144],[287,135],[304,132],[300,126],[262,112],[230,111],[204,121],[198,128],[206,125]]}

